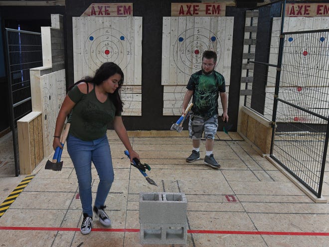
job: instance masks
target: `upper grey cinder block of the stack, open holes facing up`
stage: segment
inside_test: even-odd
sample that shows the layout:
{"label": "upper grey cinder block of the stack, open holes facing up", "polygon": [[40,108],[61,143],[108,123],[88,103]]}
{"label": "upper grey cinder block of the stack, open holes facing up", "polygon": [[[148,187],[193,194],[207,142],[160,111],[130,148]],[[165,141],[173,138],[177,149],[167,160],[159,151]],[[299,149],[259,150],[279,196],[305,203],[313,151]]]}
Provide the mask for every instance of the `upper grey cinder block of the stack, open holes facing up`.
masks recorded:
{"label": "upper grey cinder block of the stack, open holes facing up", "polygon": [[140,193],[140,223],[185,224],[187,201],[184,193]]}

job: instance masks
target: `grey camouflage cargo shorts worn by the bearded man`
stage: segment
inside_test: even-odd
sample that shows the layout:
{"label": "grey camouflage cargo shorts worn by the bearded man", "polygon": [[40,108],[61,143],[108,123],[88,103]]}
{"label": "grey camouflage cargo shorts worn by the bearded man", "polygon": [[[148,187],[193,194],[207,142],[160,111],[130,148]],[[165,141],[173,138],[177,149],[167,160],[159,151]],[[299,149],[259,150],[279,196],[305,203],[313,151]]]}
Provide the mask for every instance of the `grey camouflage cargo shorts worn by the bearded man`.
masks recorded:
{"label": "grey camouflage cargo shorts worn by the bearded man", "polygon": [[218,115],[210,118],[190,115],[188,122],[189,137],[191,139],[201,139],[204,131],[204,138],[215,139],[218,128]]}

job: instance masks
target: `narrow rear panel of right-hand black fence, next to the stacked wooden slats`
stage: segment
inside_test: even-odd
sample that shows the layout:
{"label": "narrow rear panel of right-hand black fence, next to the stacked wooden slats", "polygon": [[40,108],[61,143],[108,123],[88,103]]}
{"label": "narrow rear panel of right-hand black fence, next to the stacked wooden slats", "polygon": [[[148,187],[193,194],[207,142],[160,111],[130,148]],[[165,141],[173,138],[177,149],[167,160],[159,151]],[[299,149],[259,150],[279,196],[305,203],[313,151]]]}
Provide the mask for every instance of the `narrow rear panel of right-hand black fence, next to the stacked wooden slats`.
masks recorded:
{"label": "narrow rear panel of right-hand black fence, next to the stacked wooden slats", "polygon": [[245,96],[245,106],[269,121],[272,121],[276,84],[281,4],[279,2],[257,8],[254,11],[258,11],[258,17],[248,20],[252,26],[257,26],[257,32],[250,33],[249,37],[255,38],[256,44],[248,47],[248,52],[255,56],[248,59],[248,63],[254,64],[254,68],[247,72],[247,76],[253,77],[253,81],[246,83],[246,89],[252,91],[252,95]]}

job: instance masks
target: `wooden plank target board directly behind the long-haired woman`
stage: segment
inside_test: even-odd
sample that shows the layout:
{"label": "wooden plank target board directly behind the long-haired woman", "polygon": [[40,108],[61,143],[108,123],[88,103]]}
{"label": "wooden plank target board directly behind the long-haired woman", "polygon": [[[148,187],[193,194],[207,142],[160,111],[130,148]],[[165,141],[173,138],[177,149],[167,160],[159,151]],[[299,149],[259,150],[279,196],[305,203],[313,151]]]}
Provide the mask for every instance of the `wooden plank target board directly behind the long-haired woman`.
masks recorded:
{"label": "wooden plank target board directly behind the long-haired woman", "polygon": [[142,17],[72,17],[74,80],[93,76],[105,62],[124,72],[125,116],[142,115]]}

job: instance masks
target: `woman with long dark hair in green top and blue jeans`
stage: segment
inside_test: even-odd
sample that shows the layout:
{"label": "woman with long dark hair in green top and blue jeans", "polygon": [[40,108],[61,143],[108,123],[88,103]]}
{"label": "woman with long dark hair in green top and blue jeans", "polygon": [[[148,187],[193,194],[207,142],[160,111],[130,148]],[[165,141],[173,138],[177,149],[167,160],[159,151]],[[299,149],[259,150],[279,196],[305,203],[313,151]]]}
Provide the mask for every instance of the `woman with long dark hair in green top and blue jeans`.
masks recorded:
{"label": "woman with long dark hair in green top and blue jeans", "polygon": [[[123,102],[119,90],[123,80],[124,74],[117,64],[102,64],[94,77],[85,77],[69,89],[56,120],[54,150],[57,146],[62,148],[59,136],[70,114],[70,129],[66,142],[78,178],[83,210],[80,229],[82,234],[91,232],[93,211],[104,226],[111,225],[111,220],[104,211],[105,200],[114,181],[111,149],[106,135],[108,123],[113,123],[116,133],[130,153],[131,161],[133,158],[139,158],[132,148],[121,117]],[[91,162],[94,163],[99,176],[94,207]]]}

